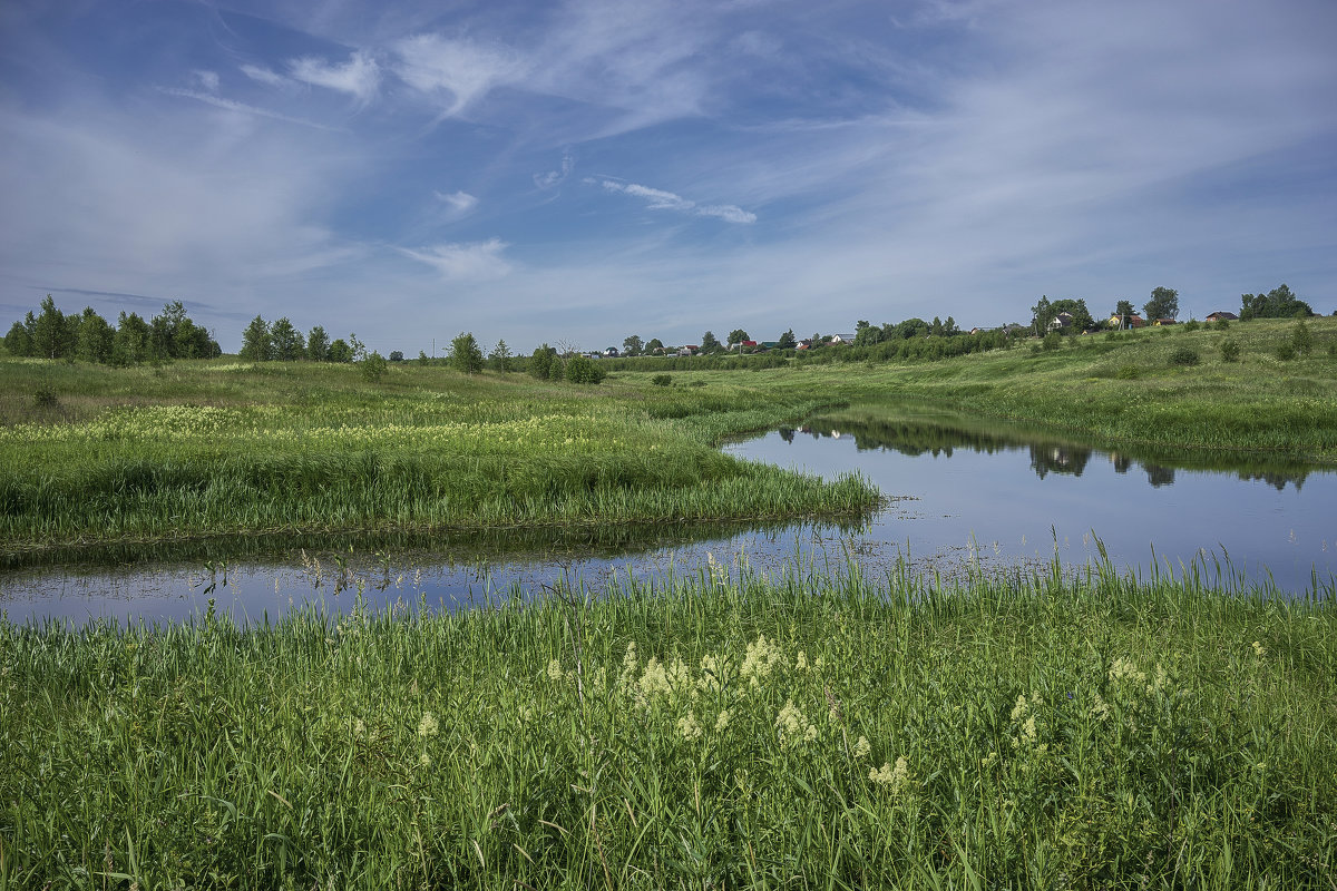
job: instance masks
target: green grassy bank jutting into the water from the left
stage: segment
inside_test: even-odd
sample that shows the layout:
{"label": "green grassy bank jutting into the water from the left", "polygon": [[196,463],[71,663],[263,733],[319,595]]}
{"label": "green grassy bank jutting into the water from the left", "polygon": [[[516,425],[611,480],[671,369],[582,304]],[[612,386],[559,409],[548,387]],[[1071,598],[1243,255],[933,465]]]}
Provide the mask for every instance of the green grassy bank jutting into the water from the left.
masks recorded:
{"label": "green grassy bank jutting into the water from the left", "polygon": [[[0,540],[759,520],[866,510],[865,482],[735,461],[832,399],[400,366],[3,362]],[[33,394],[45,393],[36,398]]]}

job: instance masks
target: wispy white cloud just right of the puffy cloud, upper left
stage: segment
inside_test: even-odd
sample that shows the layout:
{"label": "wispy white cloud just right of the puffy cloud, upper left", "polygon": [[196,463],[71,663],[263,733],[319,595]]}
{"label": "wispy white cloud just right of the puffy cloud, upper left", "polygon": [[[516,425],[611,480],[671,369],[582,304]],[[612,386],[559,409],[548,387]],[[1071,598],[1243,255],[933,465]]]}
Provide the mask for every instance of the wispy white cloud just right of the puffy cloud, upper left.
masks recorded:
{"label": "wispy white cloud just right of the puffy cloud, upper left", "polygon": [[394,73],[429,96],[441,91],[451,100],[443,116],[457,115],[493,87],[519,79],[525,63],[511,49],[424,33],[396,44]]}

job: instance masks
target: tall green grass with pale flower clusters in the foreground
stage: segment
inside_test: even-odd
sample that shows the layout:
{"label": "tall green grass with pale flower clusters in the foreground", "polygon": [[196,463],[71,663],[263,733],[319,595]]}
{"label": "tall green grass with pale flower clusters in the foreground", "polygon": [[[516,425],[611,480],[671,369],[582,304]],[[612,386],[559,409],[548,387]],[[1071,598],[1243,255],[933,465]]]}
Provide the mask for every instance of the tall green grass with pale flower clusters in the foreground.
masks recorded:
{"label": "tall green grass with pale flower clusters in the foreground", "polygon": [[0,625],[0,887],[1329,888],[1337,614],[1223,593]]}

